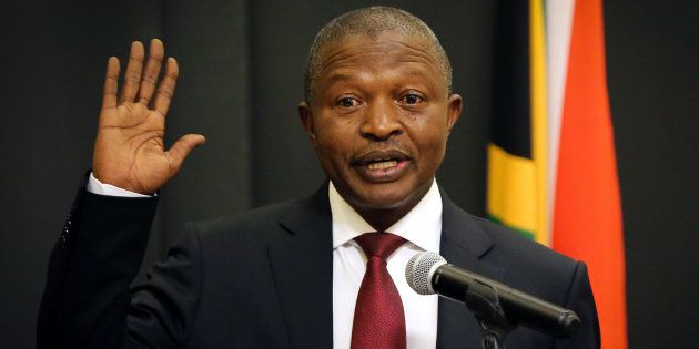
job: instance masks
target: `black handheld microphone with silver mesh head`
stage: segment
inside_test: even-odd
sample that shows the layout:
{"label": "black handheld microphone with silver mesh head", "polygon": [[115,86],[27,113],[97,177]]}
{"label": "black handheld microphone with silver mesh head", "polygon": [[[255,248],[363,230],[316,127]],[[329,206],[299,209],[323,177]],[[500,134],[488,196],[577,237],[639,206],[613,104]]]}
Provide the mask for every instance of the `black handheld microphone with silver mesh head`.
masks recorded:
{"label": "black handheld microphone with silver mesh head", "polygon": [[573,336],[580,327],[580,319],[573,310],[447,264],[436,253],[424,252],[413,256],[405,266],[405,278],[416,292],[438,294],[465,302],[477,316],[493,316],[492,309],[482,305],[484,299],[494,298],[489,299],[490,304],[499,300],[505,319],[513,325],[519,324],[559,338]]}

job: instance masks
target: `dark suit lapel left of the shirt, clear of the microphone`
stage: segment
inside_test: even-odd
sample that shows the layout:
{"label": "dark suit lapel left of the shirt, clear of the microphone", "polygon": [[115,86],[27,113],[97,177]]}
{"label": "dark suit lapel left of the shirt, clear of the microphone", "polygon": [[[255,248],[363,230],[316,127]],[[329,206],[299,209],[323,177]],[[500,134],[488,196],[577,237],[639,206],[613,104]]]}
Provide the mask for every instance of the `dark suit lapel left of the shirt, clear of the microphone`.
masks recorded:
{"label": "dark suit lapel left of the shirt, clear of the microphone", "polygon": [[293,348],[333,346],[333,244],[327,185],[282,222],[288,235],[269,245],[286,335]]}

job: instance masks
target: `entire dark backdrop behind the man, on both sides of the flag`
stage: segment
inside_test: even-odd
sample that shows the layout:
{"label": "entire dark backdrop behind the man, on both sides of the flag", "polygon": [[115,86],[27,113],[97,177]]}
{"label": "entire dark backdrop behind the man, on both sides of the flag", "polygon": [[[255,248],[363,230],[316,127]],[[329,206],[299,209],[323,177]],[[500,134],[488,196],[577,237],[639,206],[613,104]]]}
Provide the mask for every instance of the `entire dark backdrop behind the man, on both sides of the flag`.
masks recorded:
{"label": "entire dark backdrop behind the man, on both sides of the flag", "polygon": [[[323,178],[296,116],[315,32],[369,1],[4,1],[0,4],[0,348],[31,348],[49,250],[90,166],[109,55],[165,40],[181,65],[168,142],[207,143],[161,191],[144,266],[182,223],[306,195]],[[438,173],[485,213],[496,1],[388,1],[423,18],[465,100]],[[610,103],[619,160],[631,348],[697,342],[699,6],[607,1]]]}

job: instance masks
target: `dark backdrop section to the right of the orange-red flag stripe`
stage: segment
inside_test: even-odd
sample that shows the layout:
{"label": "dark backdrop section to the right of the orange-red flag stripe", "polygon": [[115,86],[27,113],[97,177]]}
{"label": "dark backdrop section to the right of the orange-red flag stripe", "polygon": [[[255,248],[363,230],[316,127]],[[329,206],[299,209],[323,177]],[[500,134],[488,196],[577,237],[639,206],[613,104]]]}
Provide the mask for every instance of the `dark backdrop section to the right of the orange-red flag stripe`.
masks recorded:
{"label": "dark backdrop section to the right of the orange-red flag stripe", "polygon": [[[698,342],[699,7],[606,4],[631,348]],[[693,294],[693,291],[689,291]]]}

